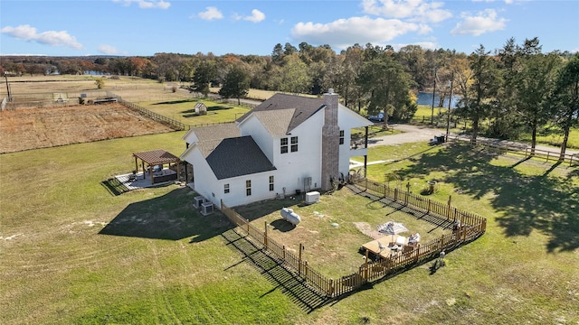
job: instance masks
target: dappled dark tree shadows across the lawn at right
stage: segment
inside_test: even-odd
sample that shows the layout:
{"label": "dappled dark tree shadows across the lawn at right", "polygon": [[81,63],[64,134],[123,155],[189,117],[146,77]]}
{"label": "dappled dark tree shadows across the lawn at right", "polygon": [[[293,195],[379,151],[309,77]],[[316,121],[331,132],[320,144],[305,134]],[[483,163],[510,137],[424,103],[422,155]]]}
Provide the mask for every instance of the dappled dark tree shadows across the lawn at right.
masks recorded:
{"label": "dappled dark tree shadows across the lawn at right", "polygon": [[541,167],[546,163],[525,158],[511,166],[498,166],[491,163],[497,156],[498,153],[469,144],[449,144],[438,152],[422,154],[413,165],[398,174],[412,178],[430,172],[446,172],[442,180],[453,184],[463,194],[474,200],[491,197],[493,208],[500,213],[496,218],[498,225],[504,228],[508,237],[528,236],[539,231],[549,237],[548,252],[579,248],[578,172],[565,167],[566,177],[554,177],[550,174],[561,167],[554,164],[541,175],[529,175],[518,172],[515,167],[522,168],[527,163]]}

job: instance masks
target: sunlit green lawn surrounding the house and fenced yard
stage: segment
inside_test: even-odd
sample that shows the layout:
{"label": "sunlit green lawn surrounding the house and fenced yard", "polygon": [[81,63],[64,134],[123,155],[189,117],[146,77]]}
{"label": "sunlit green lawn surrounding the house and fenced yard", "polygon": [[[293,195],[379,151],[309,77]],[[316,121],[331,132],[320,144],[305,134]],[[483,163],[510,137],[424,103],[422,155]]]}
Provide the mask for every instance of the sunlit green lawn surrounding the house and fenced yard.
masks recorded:
{"label": "sunlit green lawn surrounding the house and fenced yard", "polygon": [[[395,172],[417,193],[437,179],[432,199],[451,195],[454,205],[488,218],[487,234],[449,253],[434,274],[427,263],[336,302],[311,302],[289,274],[243,245],[223,216],[198,214],[193,191],[170,185],[114,196],[103,186],[134,168],[133,152],[180,154],[182,135],[0,155],[0,323],[579,321],[577,169],[467,146],[371,148],[370,161],[396,161],[373,165],[370,177],[384,181]],[[304,225],[327,227],[318,235],[322,259],[344,264],[327,266],[332,276],[351,267],[341,255],[356,248],[349,238],[360,236],[346,217],[375,223],[387,213],[346,190],[296,208],[305,217],[312,209],[327,216],[318,226]],[[330,220],[340,226],[330,228]],[[319,230],[304,228],[300,236]],[[332,244],[342,237],[350,246]],[[308,245],[308,254],[315,249]]]}

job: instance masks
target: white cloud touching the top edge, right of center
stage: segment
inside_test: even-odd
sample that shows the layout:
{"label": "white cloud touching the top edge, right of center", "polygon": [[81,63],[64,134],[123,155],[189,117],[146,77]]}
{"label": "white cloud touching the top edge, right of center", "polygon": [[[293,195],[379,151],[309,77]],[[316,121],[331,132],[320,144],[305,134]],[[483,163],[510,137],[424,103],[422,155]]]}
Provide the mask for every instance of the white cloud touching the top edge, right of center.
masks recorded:
{"label": "white cloud touching the top edge, right of center", "polygon": [[424,0],[363,0],[362,8],[365,14],[381,15],[386,18],[409,19],[422,23],[439,23],[452,14],[441,9],[441,2],[427,2]]}

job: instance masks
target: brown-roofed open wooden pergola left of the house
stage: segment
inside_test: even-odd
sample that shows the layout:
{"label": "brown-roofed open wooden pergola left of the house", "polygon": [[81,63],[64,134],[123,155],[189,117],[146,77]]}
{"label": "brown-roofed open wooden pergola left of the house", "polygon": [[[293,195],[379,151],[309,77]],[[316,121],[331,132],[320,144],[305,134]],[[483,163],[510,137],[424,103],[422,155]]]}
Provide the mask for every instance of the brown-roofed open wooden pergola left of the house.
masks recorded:
{"label": "brown-roofed open wooden pergola left of the house", "polygon": [[[173,181],[179,178],[180,160],[173,153],[158,149],[133,153],[133,157],[135,157],[135,171],[138,171],[138,160],[140,159],[143,168],[143,179],[147,178],[147,174],[150,175],[152,184]],[[147,168],[145,167],[146,164]],[[165,169],[166,164],[168,164],[168,169]],[[175,167],[175,170],[171,168],[172,166]]]}

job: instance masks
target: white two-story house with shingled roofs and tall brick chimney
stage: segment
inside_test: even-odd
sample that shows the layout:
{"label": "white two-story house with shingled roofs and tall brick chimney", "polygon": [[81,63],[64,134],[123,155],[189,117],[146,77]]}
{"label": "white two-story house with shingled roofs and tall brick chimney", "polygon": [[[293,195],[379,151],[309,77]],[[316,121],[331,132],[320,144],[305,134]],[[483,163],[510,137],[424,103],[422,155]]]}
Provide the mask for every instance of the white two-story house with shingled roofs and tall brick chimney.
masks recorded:
{"label": "white two-story house with shingled roofs and tall brick chimney", "polygon": [[[276,94],[235,123],[189,130],[181,159],[192,165],[189,186],[217,207],[323,192],[347,177],[351,157],[366,161],[369,125],[331,89],[323,99]],[[358,127],[365,144],[353,145]]]}

